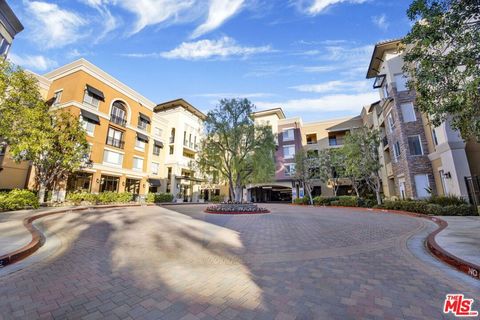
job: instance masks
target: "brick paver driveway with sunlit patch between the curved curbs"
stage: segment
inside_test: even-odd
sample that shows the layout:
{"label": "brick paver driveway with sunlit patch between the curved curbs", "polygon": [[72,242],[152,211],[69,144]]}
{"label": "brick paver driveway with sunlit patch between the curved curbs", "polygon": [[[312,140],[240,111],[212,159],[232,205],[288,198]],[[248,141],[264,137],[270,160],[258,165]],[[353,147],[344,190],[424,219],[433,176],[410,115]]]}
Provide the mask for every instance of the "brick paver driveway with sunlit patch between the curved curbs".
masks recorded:
{"label": "brick paver driveway with sunlit patch between the curved curbs", "polygon": [[0,319],[442,319],[445,294],[457,292],[480,309],[478,281],[423,251],[428,221],[288,205],[250,216],[204,208],[45,219],[62,249],[0,277]]}

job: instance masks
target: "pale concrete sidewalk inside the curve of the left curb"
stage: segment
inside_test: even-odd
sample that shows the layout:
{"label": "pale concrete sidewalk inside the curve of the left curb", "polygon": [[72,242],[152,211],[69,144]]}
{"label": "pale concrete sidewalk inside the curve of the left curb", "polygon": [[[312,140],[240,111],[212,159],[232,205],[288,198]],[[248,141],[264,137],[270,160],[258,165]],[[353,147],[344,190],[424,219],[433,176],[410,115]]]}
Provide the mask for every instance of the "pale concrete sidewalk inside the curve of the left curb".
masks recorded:
{"label": "pale concrete sidewalk inside the curve of the left curb", "polygon": [[23,225],[25,218],[41,213],[63,211],[72,208],[78,207],[69,206],[0,212],[0,256],[18,250],[32,240],[32,235]]}

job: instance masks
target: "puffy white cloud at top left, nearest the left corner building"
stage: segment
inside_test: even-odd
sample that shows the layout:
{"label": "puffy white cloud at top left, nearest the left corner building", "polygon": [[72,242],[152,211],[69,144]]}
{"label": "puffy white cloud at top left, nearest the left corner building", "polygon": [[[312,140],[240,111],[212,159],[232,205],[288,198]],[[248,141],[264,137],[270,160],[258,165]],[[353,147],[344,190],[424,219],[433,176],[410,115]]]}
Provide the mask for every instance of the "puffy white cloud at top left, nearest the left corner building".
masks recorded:
{"label": "puffy white cloud at top left, nearest the left corner building", "polygon": [[85,35],[86,20],[72,11],[41,1],[26,2],[26,7],[33,20],[31,38],[43,48],[61,48]]}

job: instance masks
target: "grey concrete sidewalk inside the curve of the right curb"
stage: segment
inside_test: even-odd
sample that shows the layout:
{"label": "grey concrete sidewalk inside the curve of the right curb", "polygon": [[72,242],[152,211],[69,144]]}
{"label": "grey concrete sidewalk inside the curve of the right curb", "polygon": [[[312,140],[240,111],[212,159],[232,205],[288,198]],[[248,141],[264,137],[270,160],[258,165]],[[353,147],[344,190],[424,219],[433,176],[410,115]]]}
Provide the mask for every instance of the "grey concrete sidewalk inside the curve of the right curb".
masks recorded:
{"label": "grey concrete sidewalk inside the curve of the right curb", "polygon": [[438,217],[448,227],[435,240],[449,253],[480,265],[480,217]]}

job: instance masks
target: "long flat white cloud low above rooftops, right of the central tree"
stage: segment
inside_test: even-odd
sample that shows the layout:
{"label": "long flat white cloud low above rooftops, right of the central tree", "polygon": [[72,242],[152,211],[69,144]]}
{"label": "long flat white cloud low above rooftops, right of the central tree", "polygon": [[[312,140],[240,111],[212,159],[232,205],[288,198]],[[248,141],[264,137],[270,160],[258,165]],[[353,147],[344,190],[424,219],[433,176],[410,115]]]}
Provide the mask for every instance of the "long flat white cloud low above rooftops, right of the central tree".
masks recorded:
{"label": "long flat white cloud low above rooftops, right of the central tree", "polygon": [[294,99],[283,102],[255,101],[255,105],[262,109],[281,107],[287,112],[348,112],[359,114],[363,106],[378,100],[378,92],[359,94],[334,94],[316,99]]}

